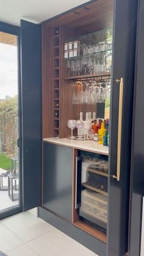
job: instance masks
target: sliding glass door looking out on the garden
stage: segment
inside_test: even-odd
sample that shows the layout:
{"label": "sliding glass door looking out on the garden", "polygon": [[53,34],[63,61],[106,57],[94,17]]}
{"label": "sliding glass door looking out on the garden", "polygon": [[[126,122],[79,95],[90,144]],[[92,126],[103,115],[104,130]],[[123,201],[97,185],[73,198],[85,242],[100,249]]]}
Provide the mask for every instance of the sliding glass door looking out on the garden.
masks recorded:
{"label": "sliding glass door looking out on the garden", "polygon": [[[7,28],[12,29],[12,34]],[[0,218],[21,211],[20,40],[17,27],[15,32],[4,23],[1,30],[0,23]]]}

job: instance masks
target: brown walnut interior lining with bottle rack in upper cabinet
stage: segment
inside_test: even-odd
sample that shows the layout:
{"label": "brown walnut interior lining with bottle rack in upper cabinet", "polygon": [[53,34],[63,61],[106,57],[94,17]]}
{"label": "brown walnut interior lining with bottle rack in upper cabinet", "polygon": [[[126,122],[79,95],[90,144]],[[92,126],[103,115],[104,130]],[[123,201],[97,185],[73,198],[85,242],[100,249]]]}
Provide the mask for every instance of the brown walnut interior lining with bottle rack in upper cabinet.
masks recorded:
{"label": "brown walnut interior lining with bottle rack in upper cabinet", "polygon": [[72,104],[73,87],[68,84],[63,43],[90,34],[113,23],[113,0],[98,0],[76,11],[47,21],[42,26],[42,116],[44,137],[67,137],[68,119],[79,112],[96,111],[96,106]]}

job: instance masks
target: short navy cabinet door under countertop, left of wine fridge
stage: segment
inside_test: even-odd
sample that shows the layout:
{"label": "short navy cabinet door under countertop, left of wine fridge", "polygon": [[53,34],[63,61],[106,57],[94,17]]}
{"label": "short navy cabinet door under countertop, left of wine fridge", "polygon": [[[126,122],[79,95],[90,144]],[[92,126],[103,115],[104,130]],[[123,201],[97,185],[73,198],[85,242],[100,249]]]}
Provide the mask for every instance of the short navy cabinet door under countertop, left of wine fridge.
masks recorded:
{"label": "short navy cabinet door under countertop, left of wine fridge", "polygon": [[73,149],[44,142],[43,207],[71,221]]}

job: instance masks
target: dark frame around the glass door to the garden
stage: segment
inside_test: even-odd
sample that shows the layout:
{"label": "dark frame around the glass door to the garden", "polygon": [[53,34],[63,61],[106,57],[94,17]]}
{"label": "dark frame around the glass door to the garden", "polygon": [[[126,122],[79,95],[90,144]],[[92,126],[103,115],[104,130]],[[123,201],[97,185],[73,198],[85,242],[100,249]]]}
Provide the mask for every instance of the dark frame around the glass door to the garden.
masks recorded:
{"label": "dark frame around the glass door to the garden", "polygon": [[7,208],[4,213],[0,213],[0,219],[7,218],[13,214],[23,211],[23,178],[22,178],[22,119],[21,119],[21,51],[20,51],[20,27],[0,21],[0,32],[17,36],[17,51],[18,51],[18,117],[19,117],[19,172],[20,172],[20,188],[19,188],[19,206],[13,209]]}

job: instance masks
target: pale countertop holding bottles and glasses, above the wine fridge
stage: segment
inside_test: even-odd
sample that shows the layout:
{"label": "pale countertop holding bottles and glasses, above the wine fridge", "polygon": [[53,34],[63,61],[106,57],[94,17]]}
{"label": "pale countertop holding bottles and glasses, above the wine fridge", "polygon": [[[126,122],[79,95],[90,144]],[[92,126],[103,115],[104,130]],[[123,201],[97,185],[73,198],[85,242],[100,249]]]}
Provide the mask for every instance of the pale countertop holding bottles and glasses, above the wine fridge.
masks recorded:
{"label": "pale countertop holding bottles and glasses, above the wine fridge", "polygon": [[67,138],[59,139],[58,137],[45,138],[43,141],[88,152],[94,152],[101,155],[109,155],[109,147],[100,145],[96,141],[73,141]]}

